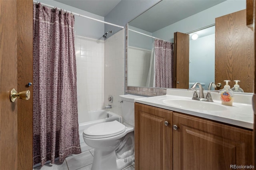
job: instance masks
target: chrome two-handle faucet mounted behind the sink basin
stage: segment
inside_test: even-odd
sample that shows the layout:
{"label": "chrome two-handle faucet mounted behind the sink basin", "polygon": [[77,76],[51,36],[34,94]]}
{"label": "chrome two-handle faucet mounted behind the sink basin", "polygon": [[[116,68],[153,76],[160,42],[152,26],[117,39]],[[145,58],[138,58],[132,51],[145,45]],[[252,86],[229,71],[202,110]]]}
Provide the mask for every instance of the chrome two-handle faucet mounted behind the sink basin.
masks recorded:
{"label": "chrome two-handle faucet mounted behind the sink basin", "polygon": [[[199,87],[199,97],[197,95],[196,92],[196,86],[198,85]],[[192,90],[194,91],[194,95],[192,97],[192,100],[198,100],[198,101],[208,101],[208,102],[213,102],[212,100],[212,96],[211,96],[211,92],[215,92],[215,93],[220,93],[220,91],[218,90],[213,90],[213,91],[207,91],[207,95],[206,98],[204,98],[204,89],[202,87],[202,85],[200,83],[195,83],[194,85],[192,85],[192,87],[188,90]]]}

